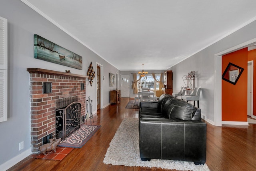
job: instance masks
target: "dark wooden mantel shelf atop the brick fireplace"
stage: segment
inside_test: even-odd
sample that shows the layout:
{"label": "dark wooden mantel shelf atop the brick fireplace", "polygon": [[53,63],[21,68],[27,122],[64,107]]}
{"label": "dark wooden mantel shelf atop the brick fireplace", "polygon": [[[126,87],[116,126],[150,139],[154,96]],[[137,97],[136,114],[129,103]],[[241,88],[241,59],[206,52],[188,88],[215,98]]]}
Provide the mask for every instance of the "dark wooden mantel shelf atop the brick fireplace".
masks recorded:
{"label": "dark wooden mantel shelf atop the brick fireplace", "polygon": [[88,78],[88,76],[72,74],[67,72],[59,72],[59,71],[52,71],[52,70],[45,70],[42,68],[27,68],[27,71],[31,73],[41,73],[41,74],[53,74],[58,76],[70,76],[70,77],[78,77],[78,78]]}

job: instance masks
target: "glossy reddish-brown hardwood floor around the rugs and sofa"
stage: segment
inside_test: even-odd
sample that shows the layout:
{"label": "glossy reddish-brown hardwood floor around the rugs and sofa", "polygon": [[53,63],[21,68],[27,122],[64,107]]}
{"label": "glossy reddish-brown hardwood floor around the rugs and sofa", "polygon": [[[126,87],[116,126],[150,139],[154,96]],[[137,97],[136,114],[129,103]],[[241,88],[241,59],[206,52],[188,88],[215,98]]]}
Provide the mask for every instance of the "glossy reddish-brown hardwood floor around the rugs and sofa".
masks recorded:
{"label": "glossy reddish-brown hardwood floor around the rugs and sofa", "polygon": [[[113,166],[103,163],[104,155],[125,117],[138,117],[138,109],[125,109],[129,98],[119,105],[98,110],[94,124],[102,127],[82,147],[73,149],[62,161],[27,157],[8,171],[152,171],[148,167]],[[90,120],[87,121],[90,124]],[[256,124],[249,126],[207,124],[206,164],[211,171],[256,170]]]}

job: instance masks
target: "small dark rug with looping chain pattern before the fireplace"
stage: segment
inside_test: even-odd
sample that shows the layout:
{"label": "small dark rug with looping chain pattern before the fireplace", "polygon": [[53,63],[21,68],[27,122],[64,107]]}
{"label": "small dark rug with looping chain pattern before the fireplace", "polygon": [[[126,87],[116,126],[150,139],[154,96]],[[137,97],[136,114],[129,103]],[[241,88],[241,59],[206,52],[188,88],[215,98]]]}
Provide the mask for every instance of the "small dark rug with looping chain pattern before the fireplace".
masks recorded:
{"label": "small dark rug with looping chain pattern before the fireplace", "polygon": [[74,133],[60,141],[60,147],[81,148],[100,129],[100,125],[81,125]]}

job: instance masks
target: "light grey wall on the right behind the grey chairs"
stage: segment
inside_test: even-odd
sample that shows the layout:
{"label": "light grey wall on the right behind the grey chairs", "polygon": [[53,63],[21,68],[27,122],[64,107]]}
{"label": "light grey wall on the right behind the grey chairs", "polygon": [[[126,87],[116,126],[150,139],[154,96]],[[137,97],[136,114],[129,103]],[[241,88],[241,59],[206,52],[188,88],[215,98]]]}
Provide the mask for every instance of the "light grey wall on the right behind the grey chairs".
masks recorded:
{"label": "light grey wall on the right behind the grey chairs", "polygon": [[[178,92],[180,86],[184,85],[182,76],[188,74],[190,71],[196,71],[195,86],[202,88],[200,94],[202,115],[206,115],[207,120],[212,124],[215,123],[214,110],[216,109],[214,107],[216,106],[214,104],[215,72],[216,69],[221,68],[215,64],[215,54],[256,38],[255,28],[256,22],[254,21],[168,69],[173,71],[173,88],[175,92]],[[217,75],[216,77],[221,78],[221,75]],[[221,84],[217,84],[217,87],[221,89]],[[216,101],[221,101],[221,97],[217,97]]]}

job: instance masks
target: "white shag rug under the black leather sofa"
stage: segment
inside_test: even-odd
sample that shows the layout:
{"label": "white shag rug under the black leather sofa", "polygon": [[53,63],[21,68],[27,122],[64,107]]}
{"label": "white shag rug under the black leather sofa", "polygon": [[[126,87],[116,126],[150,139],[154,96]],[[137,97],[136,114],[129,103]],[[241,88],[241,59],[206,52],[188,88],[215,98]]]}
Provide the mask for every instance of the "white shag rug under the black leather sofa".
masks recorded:
{"label": "white shag rug under the black leather sofa", "polygon": [[159,167],[162,169],[210,171],[206,164],[188,161],[151,159],[141,161],[139,150],[138,118],[125,118],[110,142],[103,162],[112,165]]}

